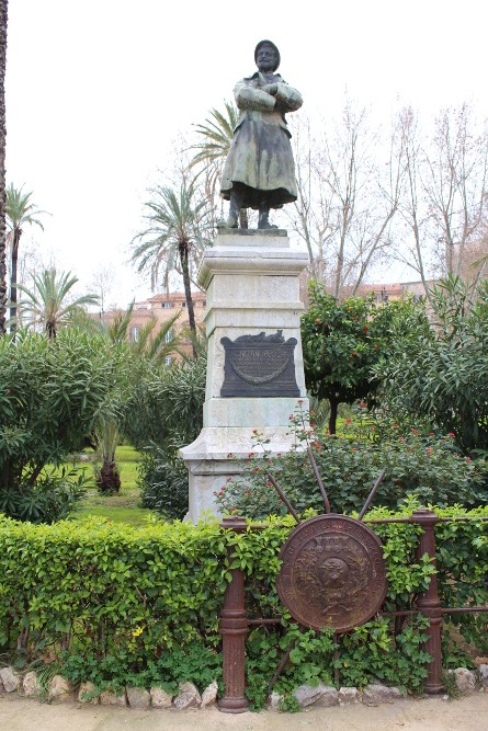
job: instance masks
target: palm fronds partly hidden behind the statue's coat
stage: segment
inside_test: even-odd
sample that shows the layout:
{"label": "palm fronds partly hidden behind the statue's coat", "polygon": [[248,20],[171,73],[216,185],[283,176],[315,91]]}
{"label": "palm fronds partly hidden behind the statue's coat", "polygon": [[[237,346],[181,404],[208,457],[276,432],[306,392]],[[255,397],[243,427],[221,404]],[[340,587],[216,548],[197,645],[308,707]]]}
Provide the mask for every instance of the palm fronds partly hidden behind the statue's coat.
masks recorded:
{"label": "palm fronds partly hidden behind the statue's coat", "polygon": [[[195,130],[202,135],[203,141],[192,145],[198,150],[191,162],[191,168],[203,164],[206,174],[206,191],[212,203],[215,199],[215,189],[222,175],[222,170],[234,139],[234,129],[239,121],[239,110],[231,102],[224,101],[225,111],[211,110],[204,124],[195,125]],[[240,228],[248,228],[248,212],[241,208],[239,214]]]}

